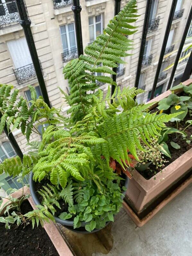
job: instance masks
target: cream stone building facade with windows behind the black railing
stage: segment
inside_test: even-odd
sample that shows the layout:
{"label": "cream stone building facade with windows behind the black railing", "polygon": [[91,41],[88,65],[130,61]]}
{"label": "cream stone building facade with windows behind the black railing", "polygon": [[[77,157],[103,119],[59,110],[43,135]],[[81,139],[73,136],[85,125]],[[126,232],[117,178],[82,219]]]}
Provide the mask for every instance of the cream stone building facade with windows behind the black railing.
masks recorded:
{"label": "cream stone building facade with windows behind the black railing", "polygon": [[[67,106],[57,86],[68,92],[67,81],[62,74],[63,66],[77,57],[76,37],[74,31],[74,16],[71,11],[72,0],[25,0],[27,11],[31,19],[31,30],[42,66],[48,96],[53,107],[62,104],[63,113],[66,113]],[[121,8],[128,1],[121,1]],[[150,97],[150,90],[158,64],[161,45],[170,12],[171,0],[153,0],[150,13],[150,24],[145,44],[142,71],[139,87],[144,88],[146,93],[139,95],[138,100],[146,102]],[[81,20],[83,33],[83,47],[92,42],[114,16],[113,0],[80,0],[82,5]],[[174,62],[183,28],[190,11],[191,0],[178,0],[174,20],[171,25],[166,52],[173,52],[169,57],[164,58],[159,82],[155,95],[166,90],[171,69],[163,71],[166,66]],[[144,13],[146,0],[138,0],[138,10],[141,15],[136,23],[138,31],[129,37],[134,40],[135,49],[129,53],[134,54],[126,57],[125,65],[119,65],[117,83],[119,86],[134,86],[139,49],[143,30]],[[188,36],[192,35],[192,28]],[[187,47],[185,45],[184,49]],[[183,50],[184,50],[183,49]],[[186,53],[183,52],[183,55]],[[178,65],[174,84],[179,83],[186,61]],[[40,95],[38,81],[32,65],[30,53],[26,44],[22,27],[19,25],[19,16],[14,1],[0,0],[0,83],[13,84],[20,90],[20,95],[30,100],[28,84],[36,87]],[[107,90],[106,85],[101,86]],[[23,153],[26,152],[26,139],[20,131],[13,132]],[[32,135],[34,140],[40,139],[36,134]],[[0,161],[14,155],[5,134],[0,137]],[[3,178],[0,176],[0,181]],[[7,180],[7,184],[11,181]]]}

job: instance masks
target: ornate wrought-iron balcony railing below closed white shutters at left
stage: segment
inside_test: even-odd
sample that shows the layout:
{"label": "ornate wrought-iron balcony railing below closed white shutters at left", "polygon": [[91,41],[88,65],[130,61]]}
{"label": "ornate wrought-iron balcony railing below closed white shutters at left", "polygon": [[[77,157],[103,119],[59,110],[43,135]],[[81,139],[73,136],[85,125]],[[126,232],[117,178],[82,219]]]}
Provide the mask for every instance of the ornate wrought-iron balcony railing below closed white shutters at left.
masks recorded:
{"label": "ornate wrought-iron balcony railing below closed white shutters at left", "polygon": [[24,84],[36,77],[35,68],[32,63],[23,67],[13,69],[13,71],[19,85]]}

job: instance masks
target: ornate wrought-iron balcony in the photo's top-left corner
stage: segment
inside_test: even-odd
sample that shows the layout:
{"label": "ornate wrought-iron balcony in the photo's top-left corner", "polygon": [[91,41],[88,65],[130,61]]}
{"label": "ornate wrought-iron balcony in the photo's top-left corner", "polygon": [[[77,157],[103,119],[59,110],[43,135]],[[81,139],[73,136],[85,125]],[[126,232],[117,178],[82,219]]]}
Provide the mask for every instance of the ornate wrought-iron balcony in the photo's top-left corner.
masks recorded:
{"label": "ornate wrought-iron balcony in the photo's top-left corner", "polygon": [[0,4],[0,29],[18,24],[20,21],[15,1]]}

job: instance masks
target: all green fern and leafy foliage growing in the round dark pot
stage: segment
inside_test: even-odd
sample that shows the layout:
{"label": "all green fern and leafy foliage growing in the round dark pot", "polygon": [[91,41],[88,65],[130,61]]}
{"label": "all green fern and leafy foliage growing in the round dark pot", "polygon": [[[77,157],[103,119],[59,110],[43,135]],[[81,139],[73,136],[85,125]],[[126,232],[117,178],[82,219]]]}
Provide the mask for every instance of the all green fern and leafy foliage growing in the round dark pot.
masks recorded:
{"label": "all green fern and leafy foliage growing in the round dark pot", "polygon": [[[68,212],[61,213],[60,217],[75,217],[74,227],[85,221],[86,229],[92,231],[113,220],[122,204],[121,178],[109,163],[115,160],[127,173],[131,159],[139,161],[137,149],[146,151],[142,144],[151,147],[149,144],[157,140],[164,123],[178,115],[149,113],[148,107],[153,103],[138,105],[134,100],[137,94],[144,92],[142,89],[124,88],[121,92],[116,87],[110,96],[109,86],[105,98],[102,90],[96,90],[97,81],[116,85],[108,75],[96,76],[95,72],[114,74],[112,67],[123,63],[121,57],[128,56],[131,42],[125,35],[135,32],[135,27],[129,24],[135,22],[138,16],[135,13],[136,1],[130,0],[109,22],[104,34],[86,47],[87,55],[64,67],[70,95],[61,92],[71,106],[69,118],[63,117],[60,109],[50,109],[41,97],[37,99],[32,86],[32,105],[28,107],[22,97],[16,100],[18,91],[11,93],[12,86],[0,85],[1,131],[5,123],[11,130],[21,128],[31,146],[23,163],[18,157],[7,159],[0,165],[0,173],[33,172],[35,181],[50,181],[47,188],[39,191],[43,206],[27,215],[33,225],[42,213],[54,220],[59,199],[68,206]],[[37,128],[42,124],[49,125],[42,134],[42,141],[30,142],[31,131],[39,133]]]}

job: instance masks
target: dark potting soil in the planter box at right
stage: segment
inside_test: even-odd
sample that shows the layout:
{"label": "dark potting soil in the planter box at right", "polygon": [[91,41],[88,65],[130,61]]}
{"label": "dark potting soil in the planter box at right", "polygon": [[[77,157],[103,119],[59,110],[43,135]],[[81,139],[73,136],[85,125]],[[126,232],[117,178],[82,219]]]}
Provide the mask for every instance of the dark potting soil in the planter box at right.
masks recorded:
{"label": "dark potting soil in the planter box at right", "polygon": [[[158,109],[157,109],[158,110]],[[185,122],[187,120],[190,120],[191,117],[189,115],[189,113],[186,115],[186,117],[184,118],[183,121],[178,122],[178,128],[177,128],[177,123],[176,122],[168,122],[166,123],[166,125],[168,127],[173,127],[173,128],[177,128],[178,130],[183,130],[188,124],[185,124]],[[192,126],[189,126],[185,132],[187,133],[187,138],[189,138],[192,134]],[[191,147],[192,147],[192,142],[191,144],[188,144],[185,140],[183,140],[183,137],[181,134],[179,133],[172,133],[169,134],[169,140],[166,142],[168,147],[169,147],[169,151],[171,154],[171,158],[164,156],[164,159],[167,161],[166,163],[164,163],[164,167],[168,166],[170,163],[174,162],[179,156],[181,156],[182,154],[184,154],[185,152],[187,152]],[[179,144],[180,148],[179,149],[175,149],[170,145],[170,142],[173,141],[177,144]],[[162,168],[162,169],[163,169]],[[156,169],[156,166],[151,164],[149,166],[149,168],[143,172],[140,172],[140,174],[146,179],[149,180],[151,179],[156,173],[161,172],[161,169]]]}

